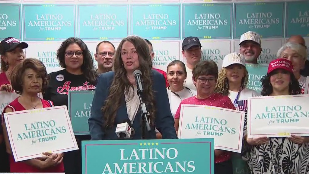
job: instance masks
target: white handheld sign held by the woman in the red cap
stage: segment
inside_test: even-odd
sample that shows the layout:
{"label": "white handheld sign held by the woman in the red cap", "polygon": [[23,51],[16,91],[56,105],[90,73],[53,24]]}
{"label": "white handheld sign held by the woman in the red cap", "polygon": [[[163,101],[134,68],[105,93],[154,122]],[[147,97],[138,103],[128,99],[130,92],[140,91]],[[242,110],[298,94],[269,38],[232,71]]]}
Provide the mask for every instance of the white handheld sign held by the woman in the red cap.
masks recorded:
{"label": "white handheld sign held by the woman in the red cap", "polygon": [[309,95],[248,98],[248,137],[309,136]]}

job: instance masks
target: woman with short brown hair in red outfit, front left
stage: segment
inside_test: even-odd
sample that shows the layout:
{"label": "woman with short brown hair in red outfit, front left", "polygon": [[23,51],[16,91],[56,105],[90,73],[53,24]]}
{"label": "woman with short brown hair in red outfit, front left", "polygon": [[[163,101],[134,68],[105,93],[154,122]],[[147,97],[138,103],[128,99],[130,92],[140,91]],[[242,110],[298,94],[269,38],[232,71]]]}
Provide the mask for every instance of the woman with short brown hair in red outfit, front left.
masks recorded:
{"label": "woman with short brown hair in red outfit, front left", "polygon": [[[23,111],[44,107],[53,107],[53,103],[38,97],[38,93],[47,85],[47,72],[44,64],[37,59],[26,59],[15,66],[11,73],[12,87],[20,97],[16,98],[4,112]],[[3,120],[3,114],[2,114]],[[6,124],[3,122],[6,151],[10,154],[10,172],[63,172],[62,154],[50,154],[46,157],[15,162],[12,156]]]}

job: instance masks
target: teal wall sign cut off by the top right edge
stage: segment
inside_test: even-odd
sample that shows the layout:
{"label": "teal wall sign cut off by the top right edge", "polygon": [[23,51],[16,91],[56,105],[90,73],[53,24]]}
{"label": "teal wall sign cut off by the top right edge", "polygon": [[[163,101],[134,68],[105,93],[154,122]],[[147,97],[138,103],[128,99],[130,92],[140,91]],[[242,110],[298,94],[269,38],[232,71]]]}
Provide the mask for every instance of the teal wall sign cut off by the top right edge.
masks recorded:
{"label": "teal wall sign cut off by the top right edge", "polygon": [[286,37],[309,37],[309,1],[287,2]]}

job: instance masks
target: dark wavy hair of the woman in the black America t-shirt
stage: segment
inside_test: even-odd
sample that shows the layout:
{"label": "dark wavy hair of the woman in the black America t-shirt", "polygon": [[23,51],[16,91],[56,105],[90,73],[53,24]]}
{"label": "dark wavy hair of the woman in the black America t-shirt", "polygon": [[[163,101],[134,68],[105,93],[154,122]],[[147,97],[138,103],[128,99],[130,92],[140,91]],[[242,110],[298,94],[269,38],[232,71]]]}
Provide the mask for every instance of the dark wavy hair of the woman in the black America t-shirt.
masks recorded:
{"label": "dark wavy hair of the woman in the black America t-shirt", "polygon": [[79,38],[77,37],[70,37],[67,38],[65,41],[62,42],[61,46],[57,50],[57,59],[59,60],[59,64],[62,68],[66,68],[65,64],[65,52],[66,49],[69,45],[76,43],[80,49],[83,51],[83,64],[81,66],[82,72],[85,75],[86,79],[93,83],[96,84],[98,72],[96,71],[95,64],[93,63],[93,59],[91,56],[91,53],[87,47],[87,45]]}

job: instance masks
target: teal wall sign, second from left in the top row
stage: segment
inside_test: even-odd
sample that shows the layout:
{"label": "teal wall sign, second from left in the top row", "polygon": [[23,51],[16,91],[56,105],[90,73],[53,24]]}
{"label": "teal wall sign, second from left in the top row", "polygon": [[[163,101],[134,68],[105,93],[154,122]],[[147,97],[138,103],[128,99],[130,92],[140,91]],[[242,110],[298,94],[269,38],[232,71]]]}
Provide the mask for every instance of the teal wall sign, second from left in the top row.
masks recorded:
{"label": "teal wall sign, second from left in the top row", "polygon": [[66,4],[23,5],[24,41],[59,41],[75,37],[75,6]]}

